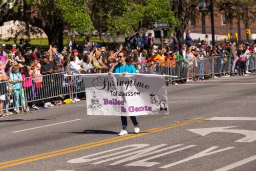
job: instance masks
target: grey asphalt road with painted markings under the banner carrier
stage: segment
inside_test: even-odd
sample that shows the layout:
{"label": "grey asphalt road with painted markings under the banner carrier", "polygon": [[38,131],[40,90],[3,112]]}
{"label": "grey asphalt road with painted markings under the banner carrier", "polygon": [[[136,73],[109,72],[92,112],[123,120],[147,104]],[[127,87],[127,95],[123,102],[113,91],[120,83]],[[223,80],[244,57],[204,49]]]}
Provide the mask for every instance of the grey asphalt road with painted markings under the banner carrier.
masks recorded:
{"label": "grey asphalt road with painted markings under the banner carrier", "polygon": [[256,170],[256,74],[167,87],[169,115],[87,116],[86,101],[0,118],[3,170]]}

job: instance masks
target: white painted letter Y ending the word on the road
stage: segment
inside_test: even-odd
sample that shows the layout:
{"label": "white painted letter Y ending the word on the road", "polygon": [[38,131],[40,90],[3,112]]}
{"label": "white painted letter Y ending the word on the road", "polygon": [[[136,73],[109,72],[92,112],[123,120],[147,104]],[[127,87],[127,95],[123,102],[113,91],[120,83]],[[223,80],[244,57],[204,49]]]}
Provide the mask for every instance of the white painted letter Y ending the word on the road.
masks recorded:
{"label": "white painted letter Y ending the word on the road", "polygon": [[228,149],[234,148],[234,147],[227,147],[227,148],[218,149],[217,151],[214,151],[214,152],[210,152],[210,151],[212,151],[212,150],[214,150],[215,148],[218,148],[218,147],[219,146],[212,146],[212,147],[207,148],[207,149],[205,149],[204,151],[202,151],[202,152],[200,152],[198,154],[195,154],[193,156],[190,156],[190,157],[188,157],[186,159],[183,159],[183,160],[180,160],[180,161],[177,161],[177,162],[174,162],[174,163],[170,163],[170,164],[164,165],[164,166],[162,166],[160,168],[172,167],[172,166],[175,166],[177,164],[181,164],[181,163],[187,162],[189,160],[197,159],[197,158],[200,158],[200,157],[212,155],[212,154],[215,154],[215,153],[223,152],[223,151],[226,151]]}

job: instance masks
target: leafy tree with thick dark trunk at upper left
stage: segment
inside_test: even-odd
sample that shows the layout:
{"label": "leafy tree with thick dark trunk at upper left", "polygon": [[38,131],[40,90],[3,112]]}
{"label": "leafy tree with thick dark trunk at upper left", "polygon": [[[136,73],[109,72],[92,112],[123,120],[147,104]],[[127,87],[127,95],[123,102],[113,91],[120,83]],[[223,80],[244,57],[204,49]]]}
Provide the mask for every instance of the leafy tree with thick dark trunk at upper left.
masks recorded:
{"label": "leafy tree with thick dark trunk at upper left", "polygon": [[90,9],[83,0],[1,0],[0,25],[20,20],[44,30],[50,44],[62,46],[63,30],[92,31]]}

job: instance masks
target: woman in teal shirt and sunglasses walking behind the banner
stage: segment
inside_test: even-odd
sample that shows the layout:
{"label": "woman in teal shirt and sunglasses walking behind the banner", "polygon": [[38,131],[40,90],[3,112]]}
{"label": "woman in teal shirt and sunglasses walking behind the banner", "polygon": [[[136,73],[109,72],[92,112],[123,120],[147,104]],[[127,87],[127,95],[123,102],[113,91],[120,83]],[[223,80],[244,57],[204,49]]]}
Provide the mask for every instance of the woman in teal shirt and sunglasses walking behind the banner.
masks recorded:
{"label": "woman in teal shirt and sunglasses walking behind the banner", "polygon": [[[122,75],[125,75],[127,73],[136,73],[136,69],[133,65],[131,65],[131,59],[125,55],[122,51],[118,53],[118,65],[116,65],[113,69],[113,73],[122,73]],[[109,74],[112,74],[110,71]],[[140,132],[139,129],[139,123],[137,122],[137,119],[135,116],[130,116],[133,124],[134,124],[134,131],[136,134]],[[121,116],[122,126],[123,129],[118,134],[119,136],[127,135],[127,117]]]}

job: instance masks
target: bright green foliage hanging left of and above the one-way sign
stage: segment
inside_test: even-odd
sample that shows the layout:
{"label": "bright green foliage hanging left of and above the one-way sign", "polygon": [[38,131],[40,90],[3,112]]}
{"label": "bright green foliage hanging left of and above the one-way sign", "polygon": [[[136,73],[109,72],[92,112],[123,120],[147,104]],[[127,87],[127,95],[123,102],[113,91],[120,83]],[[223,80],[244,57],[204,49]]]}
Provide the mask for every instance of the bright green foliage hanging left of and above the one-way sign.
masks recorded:
{"label": "bright green foliage hanging left of and above the one-way sign", "polygon": [[108,11],[106,22],[110,34],[125,35],[139,30],[151,28],[151,22],[168,22],[169,30],[179,26],[179,19],[170,10],[168,0],[144,0],[140,3],[129,0],[120,1],[118,12]]}

